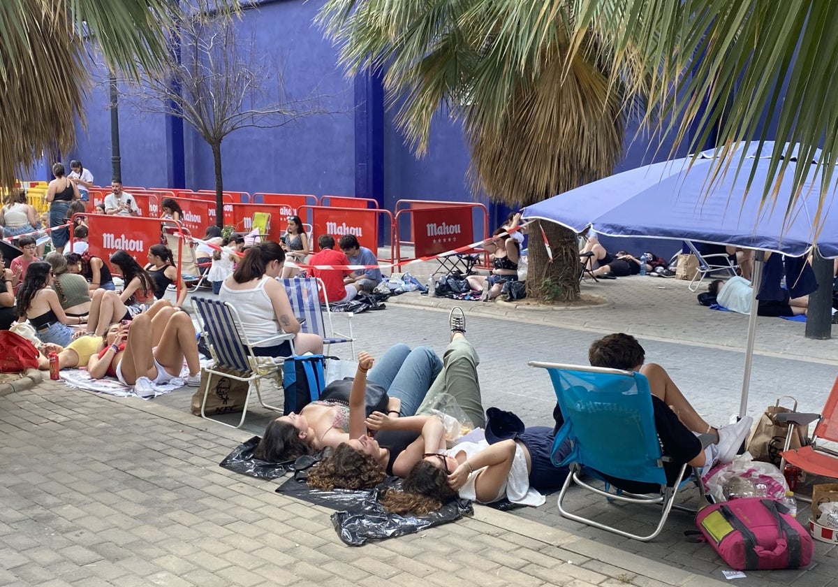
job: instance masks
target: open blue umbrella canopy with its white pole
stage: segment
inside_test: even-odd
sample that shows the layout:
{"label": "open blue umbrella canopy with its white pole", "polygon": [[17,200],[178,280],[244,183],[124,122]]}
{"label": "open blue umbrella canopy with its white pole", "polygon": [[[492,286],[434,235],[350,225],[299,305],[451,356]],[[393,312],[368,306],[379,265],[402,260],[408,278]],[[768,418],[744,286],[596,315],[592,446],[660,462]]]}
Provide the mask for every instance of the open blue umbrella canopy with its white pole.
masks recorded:
{"label": "open blue umbrella canopy with its white pole", "polygon": [[[773,143],[740,143],[733,152],[715,149],[692,158],[673,159],[646,165],[582,185],[549,200],[526,206],[521,216],[527,221],[546,220],[582,232],[608,236],[642,236],[707,242],[758,251],[779,252],[792,257],[808,254],[817,243],[824,257],[838,257],[838,210],[832,206],[835,185],[831,185],[820,221],[814,222],[820,198],[821,177],[817,161],[789,163],[779,182],[781,196],[776,206],[763,205],[763,185],[768,179],[767,155]],[[713,175],[713,160],[730,157],[727,169]],[[750,190],[747,180],[753,159],[758,159]],[[744,159],[744,160],[743,160]],[[740,164],[742,169],[737,173]],[[782,196],[791,194],[797,165],[811,165],[811,173],[791,210]],[[742,200],[742,195],[745,196]],[[758,259],[761,257],[757,256]],[[754,264],[753,283],[759,283],[762,263]],[[740,415],[747,411],[747,392],[756,331],[756,288],[748,324]]]}

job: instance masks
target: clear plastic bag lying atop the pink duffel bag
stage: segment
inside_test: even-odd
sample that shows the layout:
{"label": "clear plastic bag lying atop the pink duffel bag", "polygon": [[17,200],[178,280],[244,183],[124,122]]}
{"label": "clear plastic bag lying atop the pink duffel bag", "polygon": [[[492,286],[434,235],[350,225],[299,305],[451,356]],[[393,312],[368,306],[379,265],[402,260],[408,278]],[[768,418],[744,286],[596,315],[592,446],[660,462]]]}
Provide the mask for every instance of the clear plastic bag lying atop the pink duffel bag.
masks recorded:
{"label": "clear plastic bag lying atop the pink duffel bag", "polygon": [[[739,479],[734,480],[735,477]],[[729,496],[751,496],[750,493],[779,500],[789,491],[789,484],[777,467],[753,460],[747,452],[727,465],[711,470],[703,481],[716,503],[728,501]]]}

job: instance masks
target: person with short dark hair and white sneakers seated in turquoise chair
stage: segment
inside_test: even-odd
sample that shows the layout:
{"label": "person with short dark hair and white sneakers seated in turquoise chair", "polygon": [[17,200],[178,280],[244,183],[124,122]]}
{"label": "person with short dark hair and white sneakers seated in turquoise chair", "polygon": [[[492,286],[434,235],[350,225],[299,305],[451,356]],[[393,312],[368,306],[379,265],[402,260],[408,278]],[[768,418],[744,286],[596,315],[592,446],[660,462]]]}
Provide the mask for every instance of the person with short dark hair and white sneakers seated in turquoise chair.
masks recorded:
{"label": "person with short dark hair and white sneakers seated in turquoise chair", "polygon": [[[587,352],[588,361],[592,366],[622,369],[623,371],[639,371],[649,380],[649,390],[652,393],[652,408],[654,409],[654,423],[658,431],[660,444],[664,454],[674,461],[673,468],[680,470],[681,465],[688,463],[696,467],[729,463],[736,456],[747,433],[751,429],[753,418],[745,416],[739,422],[714,428],[701,418],[696,410],[680,392],[666,370],[656,363],[646,363],[645,351],[637,339],[622,332],[607,335],[594,340]],[[558,412],[558,407],[556,407]],[[561,413],[556,413],[556,419]],[[713,444],[701,449],[698,434],[710,434],[715,438]],[[648,493],[649,491],[635,491],[631,485],[636,482],[612,481],[615,486],[633,493]],[[644,484],[641,484],[644,485]]]}

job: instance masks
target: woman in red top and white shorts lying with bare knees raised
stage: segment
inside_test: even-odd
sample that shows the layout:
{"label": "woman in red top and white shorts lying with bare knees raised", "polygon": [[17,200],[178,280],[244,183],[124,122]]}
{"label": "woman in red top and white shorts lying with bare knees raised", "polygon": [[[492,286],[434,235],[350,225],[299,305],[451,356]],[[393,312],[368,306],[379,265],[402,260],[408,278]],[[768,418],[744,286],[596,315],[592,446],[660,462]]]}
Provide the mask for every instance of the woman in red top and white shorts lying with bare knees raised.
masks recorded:
{"label": "woman in red top and white shorts lying with bare knees raised", "polygon": [[189,314],[171,304],[156,304],[130,322],[111,325],[105,339],[107,346],[87,364],[94,379],[110,376],[124,385],[164,385],[180,377],[185,360],[186,385],[200,383],[195,327]]}

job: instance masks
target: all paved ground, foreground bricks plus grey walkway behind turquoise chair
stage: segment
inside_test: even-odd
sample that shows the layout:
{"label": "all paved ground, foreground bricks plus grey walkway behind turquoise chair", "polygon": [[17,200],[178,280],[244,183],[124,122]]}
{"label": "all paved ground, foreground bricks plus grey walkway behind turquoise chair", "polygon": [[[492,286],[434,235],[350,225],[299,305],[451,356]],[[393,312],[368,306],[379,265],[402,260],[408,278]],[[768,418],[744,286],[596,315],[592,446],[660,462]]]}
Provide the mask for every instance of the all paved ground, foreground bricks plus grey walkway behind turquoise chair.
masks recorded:
{"label": "all paved ground, foreground bricks plus grey walkway behind turquoise chair", "polygon": [[[607,299],[590,309],[463,304],[482,363],[484,404],[549,423],[552,392],[532,359],[584,362],[597,335],[638,335],[649,360],[673,371],[713,422],[738,405],[747,319],[695,304],[686,283],[626,278],[586,285]],[[442,351],[453,300],[393,298],[356,316],[359,349],[396,341]],[[805,340],[804,325],[760,319],[752,411],[793,389],[818,409],[835,377],[835,341]],[[334,347],[341,356],[349,349]],[[272,493],[275,482],[217,463],[268,418],[222,429],[188,413],[189,391],[153,402],[115,400],[44,382],[0,397],[0,584],[713,584],[719,559],[685,543],[691,518],[643,544],[582,527],[545,506],[496,512],[360,549],[339,543],[327,511]],[[24,465],[20,465],[23,463]],[[602,504],[582,501],[581,506]],[[624,518],[612,506],[604,516]],[[628,512],[627,512],[628,514]],[[647,521],[642,513],[631,521]],[[818,544],[805,571],[748,573],[738,584],[826,585],[838,553]],[[572,564],[568,564],[572,561]],[[370,573],[370,569],[374,569]]]}

